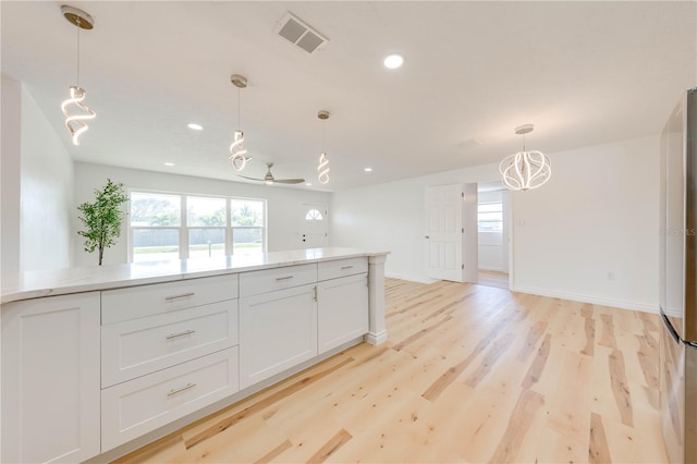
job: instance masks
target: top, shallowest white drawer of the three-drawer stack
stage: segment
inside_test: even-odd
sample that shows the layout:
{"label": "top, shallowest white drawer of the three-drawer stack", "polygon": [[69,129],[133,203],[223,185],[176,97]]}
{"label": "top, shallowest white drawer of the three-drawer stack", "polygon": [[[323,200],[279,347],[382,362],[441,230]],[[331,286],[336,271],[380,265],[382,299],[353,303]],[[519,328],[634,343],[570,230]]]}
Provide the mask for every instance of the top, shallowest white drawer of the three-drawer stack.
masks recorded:
{"label": "top, shallowest white drawer of the three-drawer stack", "polygon": [[101,323],[186,309],[237,297],[237,274],[185,279],[101,292]]}

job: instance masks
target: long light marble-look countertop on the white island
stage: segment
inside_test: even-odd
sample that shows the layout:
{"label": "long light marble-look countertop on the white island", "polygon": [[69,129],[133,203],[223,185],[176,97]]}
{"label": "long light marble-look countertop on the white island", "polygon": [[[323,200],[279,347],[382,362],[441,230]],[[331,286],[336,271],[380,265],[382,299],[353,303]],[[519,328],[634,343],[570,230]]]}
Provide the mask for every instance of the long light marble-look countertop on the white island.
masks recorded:
{"label": "long light marble-look countertop on the white island", "polygon": [[2,278],[2,296],[0,301],[1,303],[10,303],[42,296],[173,282],[181,279],[247,272],[359,256],[386,256],[388,254],[389,252],[327,247],[248,256],[220,256],[27,271],[16,277]]}

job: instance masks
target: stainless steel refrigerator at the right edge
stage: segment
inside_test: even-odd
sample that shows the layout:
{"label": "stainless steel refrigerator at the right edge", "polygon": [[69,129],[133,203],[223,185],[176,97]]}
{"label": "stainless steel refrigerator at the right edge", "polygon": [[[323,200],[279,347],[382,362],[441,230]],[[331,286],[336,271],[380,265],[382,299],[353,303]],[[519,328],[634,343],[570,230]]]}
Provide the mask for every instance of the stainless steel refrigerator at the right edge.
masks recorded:
{"label": "stainless steel refrigerator at the right edge", "polygon": [[660,381],[670,462],[697,462],[697,88],[661,136]]}

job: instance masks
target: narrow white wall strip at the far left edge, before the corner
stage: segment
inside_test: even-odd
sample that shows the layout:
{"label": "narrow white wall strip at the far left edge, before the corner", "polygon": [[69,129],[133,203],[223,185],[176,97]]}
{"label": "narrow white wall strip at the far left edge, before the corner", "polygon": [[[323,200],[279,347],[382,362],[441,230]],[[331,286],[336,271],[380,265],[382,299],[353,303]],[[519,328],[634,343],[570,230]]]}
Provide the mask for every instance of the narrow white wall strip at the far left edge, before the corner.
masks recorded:
{"label": "narrow white wall strip at the far left edge, before the corner", "polygon": [[0,158],[0,266],[2,276],[20,270],[20,160],[22,159],[22,85],[2,75],[2,149]]}

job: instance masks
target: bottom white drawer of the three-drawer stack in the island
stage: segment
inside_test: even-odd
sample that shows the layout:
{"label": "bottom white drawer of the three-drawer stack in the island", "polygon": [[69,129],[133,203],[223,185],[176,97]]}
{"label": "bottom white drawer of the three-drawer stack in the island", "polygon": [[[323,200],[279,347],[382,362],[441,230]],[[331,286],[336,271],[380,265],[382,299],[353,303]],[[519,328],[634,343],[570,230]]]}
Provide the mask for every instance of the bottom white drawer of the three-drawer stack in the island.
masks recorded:
{"label": "bottom white drawer of the three-drawer stack in the island", "polygon": [[239,390],[237,347],[219,351],[101,391],[101,452]]}

